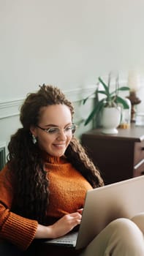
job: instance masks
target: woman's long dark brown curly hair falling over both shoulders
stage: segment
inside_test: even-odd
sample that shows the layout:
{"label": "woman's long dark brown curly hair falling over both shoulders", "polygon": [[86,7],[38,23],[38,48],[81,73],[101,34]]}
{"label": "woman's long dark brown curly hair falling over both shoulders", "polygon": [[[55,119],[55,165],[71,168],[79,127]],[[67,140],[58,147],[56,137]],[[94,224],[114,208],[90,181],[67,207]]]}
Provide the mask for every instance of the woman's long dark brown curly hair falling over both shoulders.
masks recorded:
{"label": "woman's long dark brown curly hair falling over both shoulders", "polygon": [[[28,94],[20,108],[22,128],[12,135],[8,145],[7,165],[12,173],[15,186],[15,213],[23,217],[37,219],[45,224],[49,204],[48,177],[42,160],[38,143],[33,143],[31,126],[39,124],[39,113],[42,107],[49,105],[67,105],[72,117],[74,108],[65,95],[55,86],[39,86],[36,93]],[[103,181],[99,171],[88,158],[83,146],[73,137],[65,156],[68,161],[89,181],[92,187],[101,187]]]}

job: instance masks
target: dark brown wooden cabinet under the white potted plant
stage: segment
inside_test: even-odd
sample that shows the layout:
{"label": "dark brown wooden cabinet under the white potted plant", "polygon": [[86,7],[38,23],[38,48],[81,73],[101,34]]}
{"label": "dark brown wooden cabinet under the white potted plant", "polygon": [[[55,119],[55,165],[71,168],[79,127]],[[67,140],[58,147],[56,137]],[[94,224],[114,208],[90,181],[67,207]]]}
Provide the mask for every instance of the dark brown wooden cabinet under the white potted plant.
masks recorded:
{"label": "dark brown wooden cabinet under the white potted plant", "polygon": [[82,135],[82,144],[99,167],[105,184],[144,174],[144,127],[132,125],[118,129],[116,135],[93,129]]}

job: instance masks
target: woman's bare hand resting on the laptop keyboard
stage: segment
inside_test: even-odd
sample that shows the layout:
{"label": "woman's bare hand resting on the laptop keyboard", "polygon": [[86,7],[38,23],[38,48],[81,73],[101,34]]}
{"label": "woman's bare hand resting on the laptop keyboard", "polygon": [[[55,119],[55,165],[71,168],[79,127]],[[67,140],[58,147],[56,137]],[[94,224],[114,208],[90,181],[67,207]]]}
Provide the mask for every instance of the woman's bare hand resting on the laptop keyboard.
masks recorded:
{"label": "woman's bare hand resting on the laptop keyboard", "polygon": [[[81,212],[81,209],[80,209]],[[72,214],[66,214],[61,219],[58,219],[51,227],[52,237],[58,238],[59,236],[64,236],[69,233],[75,226],[80,225],[81,214],[79,210]]]}

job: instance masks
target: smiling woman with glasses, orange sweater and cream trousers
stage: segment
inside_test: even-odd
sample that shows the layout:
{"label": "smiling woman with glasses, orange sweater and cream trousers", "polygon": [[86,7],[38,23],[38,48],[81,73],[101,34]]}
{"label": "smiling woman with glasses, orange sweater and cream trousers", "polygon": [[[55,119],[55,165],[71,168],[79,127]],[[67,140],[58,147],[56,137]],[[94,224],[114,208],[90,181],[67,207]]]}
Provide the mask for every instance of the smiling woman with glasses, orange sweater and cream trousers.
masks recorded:
{"label": "smiling woman with glasses, orange sweater and cream trousers", "polygon": [[[34,252],[41,238],[69,233],[80,225],[86,191],[104,185],[74,136],[73,114],[72,103],[53,86],[40,86],[23,103],[22,128],[12,135],[0,172],[0,252]],[[142,256],[143,233],[134,222],[118,219],[72,253]]]}

